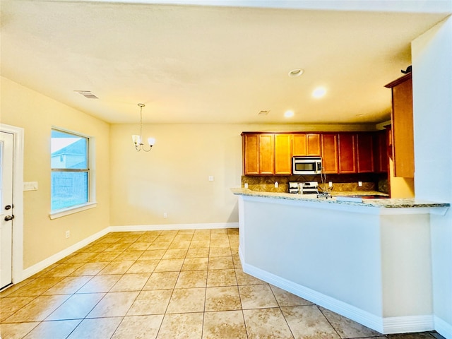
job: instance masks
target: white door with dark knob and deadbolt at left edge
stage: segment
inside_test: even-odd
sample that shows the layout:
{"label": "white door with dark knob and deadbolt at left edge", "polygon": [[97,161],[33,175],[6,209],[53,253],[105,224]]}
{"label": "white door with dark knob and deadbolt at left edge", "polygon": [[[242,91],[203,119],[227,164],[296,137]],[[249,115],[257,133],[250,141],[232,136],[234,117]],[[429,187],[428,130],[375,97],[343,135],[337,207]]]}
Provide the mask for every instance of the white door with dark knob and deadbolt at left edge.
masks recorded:
{"label": "white door with dark knob and deadbolt at left edge", "polygon": [[0,132],[0,290],[13,281],[13,134]]}

